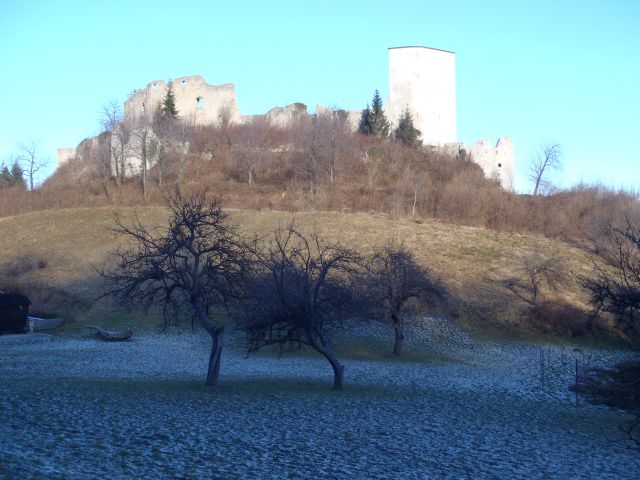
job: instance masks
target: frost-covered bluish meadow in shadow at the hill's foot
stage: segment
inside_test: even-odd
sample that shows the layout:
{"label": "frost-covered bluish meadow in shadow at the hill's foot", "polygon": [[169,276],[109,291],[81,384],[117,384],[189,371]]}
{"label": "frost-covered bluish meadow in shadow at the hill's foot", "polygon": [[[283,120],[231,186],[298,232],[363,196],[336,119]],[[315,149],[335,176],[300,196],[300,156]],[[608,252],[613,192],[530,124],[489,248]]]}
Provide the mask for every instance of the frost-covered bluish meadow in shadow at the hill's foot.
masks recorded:
{"label": "frost-covered bluish meadow in shadow at the hill's foot", "polygon": [[0,478],[638,478],[626,417],[567,390],[575,358],[624,352],[478,341],[432,319],[410,338],[415,361],[343,357],[334,392],[325,360],[233,345],[208,390],[197,332],[2,336]]}

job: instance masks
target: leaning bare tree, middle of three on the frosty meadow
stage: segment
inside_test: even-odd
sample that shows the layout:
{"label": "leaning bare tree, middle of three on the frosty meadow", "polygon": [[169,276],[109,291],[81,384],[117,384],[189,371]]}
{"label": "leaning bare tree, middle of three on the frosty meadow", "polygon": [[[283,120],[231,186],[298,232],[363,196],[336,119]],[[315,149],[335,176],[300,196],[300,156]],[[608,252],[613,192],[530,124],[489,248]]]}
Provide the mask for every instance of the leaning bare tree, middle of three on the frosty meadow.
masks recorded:
{"label": "leaning bare tree, middle of three on the frosty meadow", "polygon": [[313,348],[331,364],[333,388],[341,389],[344,366],[332,337],[357,313],[351,280],[360,257],[290,224],[256,248],[256,258],[258,276],[242,304],[249,352],[267,345],[278,346],[281,353]]}

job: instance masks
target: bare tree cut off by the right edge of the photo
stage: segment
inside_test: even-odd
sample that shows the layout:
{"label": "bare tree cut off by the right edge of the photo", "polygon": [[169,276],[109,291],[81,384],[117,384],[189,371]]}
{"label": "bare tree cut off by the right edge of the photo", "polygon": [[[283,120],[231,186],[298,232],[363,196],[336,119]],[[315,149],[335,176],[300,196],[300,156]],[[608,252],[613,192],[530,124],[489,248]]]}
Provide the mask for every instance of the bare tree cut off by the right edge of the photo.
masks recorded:
{"label": "bare tree cut off by the right edge of the photo", "polygon": [[581,285],[591,297],[595,313],[611,313],[628,334],[640,334],[640,227],[610,227],[608,241],[597,245],[598,259]]}

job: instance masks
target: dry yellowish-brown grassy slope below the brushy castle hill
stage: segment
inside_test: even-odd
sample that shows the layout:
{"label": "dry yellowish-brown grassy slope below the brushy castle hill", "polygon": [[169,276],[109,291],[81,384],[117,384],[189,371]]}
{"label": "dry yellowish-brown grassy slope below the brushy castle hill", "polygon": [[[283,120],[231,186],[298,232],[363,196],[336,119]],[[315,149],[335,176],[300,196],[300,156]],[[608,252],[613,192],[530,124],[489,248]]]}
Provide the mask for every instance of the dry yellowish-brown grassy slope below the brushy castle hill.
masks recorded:
{"label": "dry yellowish-brown grassy slope below the brushy castle hill", "polygon": [[[136,312],[119,312],[95,302],[102,288],[96,269],[126,239],[109,227],[114,214],[125,222],[137,214],[146,225],[162,226],[162,207],[74,208],[46,210],[0,218],[0,289],[19,290],[40,313],[62,314],[77,322],[100,320],[130,323]],[[232,211],[232,220],[248,234],[268,233],[286,223],[286,212]],[[366,213],[295,213],[296,222],[315,228],[325,239],[338,240],[362,253],[390,239],[404,241],[419,261],[439,275],[451,292],[448,314],[466,324],[516,325],[565,333],[582,330],[588,310],[575,276],[591,271],[589,255],[565,243],[539,236],[498,233],[483,228],[447,225],[437,221],[393,220]],[[505,286],[525,282],[518,258],[556,258],[566,273],[559,288],[542,289],[548,308],[541,314]],[[521,289],[523,295],[527,291]],[[155,321],[155,319],[150,319]]]}

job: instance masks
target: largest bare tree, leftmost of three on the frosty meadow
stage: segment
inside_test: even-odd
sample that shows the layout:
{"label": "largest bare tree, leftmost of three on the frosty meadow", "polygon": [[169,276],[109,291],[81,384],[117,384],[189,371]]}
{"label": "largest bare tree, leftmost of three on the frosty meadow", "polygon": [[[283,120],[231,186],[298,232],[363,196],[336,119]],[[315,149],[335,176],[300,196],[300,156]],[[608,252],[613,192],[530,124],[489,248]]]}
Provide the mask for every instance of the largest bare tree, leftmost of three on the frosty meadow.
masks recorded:
{"label": "largest bare tree, leftmost of three on the frosty meadow", "polygon": [[207,201],[203,192],[167,198],[168,228],[148,229],[139,220],[126,226],[116,218],[116,233],[132,240],[118,250],[118,266],[99,273],[110,284],[108,295],[125,305],[149,310],[162,306],[166,321],[184,313],[211,336],[206,385],[214,386],[220,372],[224,325],[214,319],[239,298],[249,270],[246,245],[229,223],[220,200]]}

